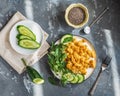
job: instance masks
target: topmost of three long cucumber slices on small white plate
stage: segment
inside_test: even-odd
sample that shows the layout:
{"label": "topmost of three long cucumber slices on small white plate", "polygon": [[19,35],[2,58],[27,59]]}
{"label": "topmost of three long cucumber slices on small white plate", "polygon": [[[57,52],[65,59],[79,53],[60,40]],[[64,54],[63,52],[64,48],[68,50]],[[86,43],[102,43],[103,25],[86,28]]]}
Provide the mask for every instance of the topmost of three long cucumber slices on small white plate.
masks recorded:
{"label": "topmost of three long cucumber slices on small white plate", "polygon": [[19,32],[19,34],[28,36],[28,37],[32,38],[32,40],[36,40],[35,34],[29,28],[27,28],[24,25],[18,25],[17,26],[17,31]]}

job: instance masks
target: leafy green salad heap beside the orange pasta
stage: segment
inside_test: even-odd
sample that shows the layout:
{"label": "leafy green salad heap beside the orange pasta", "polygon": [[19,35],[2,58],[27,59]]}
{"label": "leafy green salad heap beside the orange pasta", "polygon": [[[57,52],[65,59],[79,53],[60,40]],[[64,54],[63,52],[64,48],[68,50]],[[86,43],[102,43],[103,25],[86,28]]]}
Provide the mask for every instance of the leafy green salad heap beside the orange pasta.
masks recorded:
{"label": "leafy green salad heap beside the orange pasta", "polygon": [[64,71],[66,62],[65,59],[67,58],[66,53],[64,52],[66,46],[62,44],[54,44],[50,47],[50,53],[48,54],[48,60],[50,68],[58,72],[59,70]]}

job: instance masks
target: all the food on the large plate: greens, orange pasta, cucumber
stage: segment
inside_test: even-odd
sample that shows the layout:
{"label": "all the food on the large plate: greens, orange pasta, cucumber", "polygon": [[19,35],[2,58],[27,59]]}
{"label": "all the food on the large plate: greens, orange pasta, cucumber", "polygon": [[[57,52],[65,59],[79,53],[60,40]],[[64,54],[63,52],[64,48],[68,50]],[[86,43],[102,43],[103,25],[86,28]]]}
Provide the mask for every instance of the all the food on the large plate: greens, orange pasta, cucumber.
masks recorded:
{"label": "all the food on the large plate: greens, orange pasta, cucumber", "polygon": [[65,84],[83,82],[87,70],[96,66],[96,54],[88,41],[71,34],[52,43],[48,60],[53,74]]}

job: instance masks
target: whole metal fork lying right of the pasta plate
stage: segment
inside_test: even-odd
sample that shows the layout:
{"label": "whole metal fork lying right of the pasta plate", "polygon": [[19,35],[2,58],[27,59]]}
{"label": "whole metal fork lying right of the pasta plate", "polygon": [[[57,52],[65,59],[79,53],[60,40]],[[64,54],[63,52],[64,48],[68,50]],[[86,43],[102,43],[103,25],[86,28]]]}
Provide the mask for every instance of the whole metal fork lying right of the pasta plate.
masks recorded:
{"label": "whole metal fork lying right of the pasta plate", "polygon": [[99,71],[99,73],[98,73],[98,76],[97,76],[95,82],[93,83],[91,89],[90,89],[89,92],[88,92],[88,95],[89,95],[89,96],[93,96],[93,94],[94,94],[94,92],[95,92],[95,89],[96,89],[96,87],[97,87],[97,84],[98,84],[98,80],[100,79],[100,75],[101,75],[101,73],[108,67],[111,59],[112,59],[111,56],[106,56],[105,59],[102,61],[102,65],[101,65],[100,71]]}

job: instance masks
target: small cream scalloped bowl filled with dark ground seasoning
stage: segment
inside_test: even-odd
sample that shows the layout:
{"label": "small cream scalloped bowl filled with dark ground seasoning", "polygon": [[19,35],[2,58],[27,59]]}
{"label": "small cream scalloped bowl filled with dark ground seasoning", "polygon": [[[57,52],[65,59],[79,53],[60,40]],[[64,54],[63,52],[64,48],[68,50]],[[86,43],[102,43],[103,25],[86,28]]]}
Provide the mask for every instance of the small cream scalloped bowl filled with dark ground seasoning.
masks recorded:
{"label": "small cream scalloped bowl filled with dark ground seasoning", "polygon": [[81,3],[69,5],[65,11],[65,20],[73,28],[83,27],[89,20],[87,7]]}

